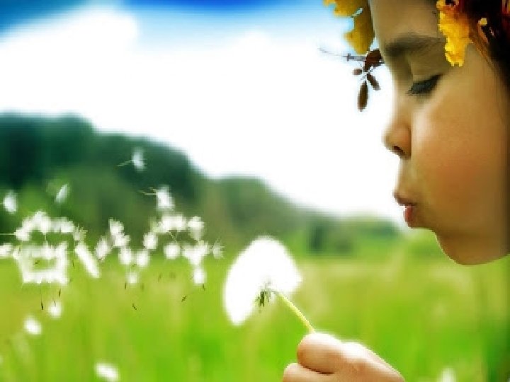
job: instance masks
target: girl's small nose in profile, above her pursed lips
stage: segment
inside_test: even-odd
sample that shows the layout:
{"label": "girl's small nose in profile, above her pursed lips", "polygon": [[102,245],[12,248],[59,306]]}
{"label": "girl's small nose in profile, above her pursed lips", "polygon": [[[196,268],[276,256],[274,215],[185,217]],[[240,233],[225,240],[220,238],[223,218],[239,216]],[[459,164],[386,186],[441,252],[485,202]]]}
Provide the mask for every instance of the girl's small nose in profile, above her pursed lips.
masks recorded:
{"label": "girl's small nose in profile, above her pursed lips", "polygon": [[390,122],[382,135],[382,142],[400,159],[411,156],[411,126],[409,120],[404,117],[402,109],[394,107]]}

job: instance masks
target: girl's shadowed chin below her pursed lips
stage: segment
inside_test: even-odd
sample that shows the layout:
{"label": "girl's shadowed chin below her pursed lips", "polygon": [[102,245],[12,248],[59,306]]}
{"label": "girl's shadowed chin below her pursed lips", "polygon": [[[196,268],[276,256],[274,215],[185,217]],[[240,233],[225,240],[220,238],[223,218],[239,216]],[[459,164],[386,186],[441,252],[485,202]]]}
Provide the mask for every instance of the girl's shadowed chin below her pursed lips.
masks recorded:
{"label": "girl's shadowed chin below her pursed lips", "polygon": [[436,238],[443,253],[460,265],[477,265],[491,262],[509,253],[506,240],[477,238],[475,236],[441,236]]}

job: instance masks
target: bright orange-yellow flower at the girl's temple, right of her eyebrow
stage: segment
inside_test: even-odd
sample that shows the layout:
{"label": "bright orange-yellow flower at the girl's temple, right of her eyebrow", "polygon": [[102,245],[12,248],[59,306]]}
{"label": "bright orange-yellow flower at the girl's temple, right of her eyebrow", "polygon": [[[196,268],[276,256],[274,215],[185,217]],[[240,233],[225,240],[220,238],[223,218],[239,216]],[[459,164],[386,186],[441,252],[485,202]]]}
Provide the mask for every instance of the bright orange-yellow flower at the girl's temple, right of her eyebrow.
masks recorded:
{"label": "bright orange-yellow flower at the girl's temple, right of her eyebrow", "polygon": [[453,5],[439,0],[436,6],[439,11],[439,30],[446,37],[446,59],[452,66],[463,66],[465,49],[471,42],[469,20],[465,13],[458,11],[458,0]]}

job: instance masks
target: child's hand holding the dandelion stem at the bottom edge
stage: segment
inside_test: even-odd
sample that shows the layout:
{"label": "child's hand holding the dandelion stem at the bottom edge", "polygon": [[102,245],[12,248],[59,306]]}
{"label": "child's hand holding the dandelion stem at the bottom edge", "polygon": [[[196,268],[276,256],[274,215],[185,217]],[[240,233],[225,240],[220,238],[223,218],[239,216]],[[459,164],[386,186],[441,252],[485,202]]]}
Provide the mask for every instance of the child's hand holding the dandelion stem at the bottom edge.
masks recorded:
{"label": "child's hand holding the dandelion stem at the bottom edge", "polygon": [[356,342],[312,333],[297,346],[297,364],[283,373],[283,382],[403,382],[404,378],[377,354]]}

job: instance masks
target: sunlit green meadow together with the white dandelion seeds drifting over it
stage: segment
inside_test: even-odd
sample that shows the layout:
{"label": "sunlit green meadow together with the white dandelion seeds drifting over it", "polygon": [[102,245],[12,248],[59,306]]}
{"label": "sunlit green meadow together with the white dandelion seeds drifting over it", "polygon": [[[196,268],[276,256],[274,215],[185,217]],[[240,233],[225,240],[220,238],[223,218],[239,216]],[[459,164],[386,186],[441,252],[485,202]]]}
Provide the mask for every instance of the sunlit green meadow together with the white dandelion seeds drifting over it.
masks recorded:
{"label": "sunlit green meadow together with the white dandelion seeds drifting over it", "polygon": [[[128,164],[145,168],[140,151]],[[89,248],[86,227],[42,211],[4,236],[1,381],[280,380],[307,332],[300,320],[275,300],[233,325],[223,294],[237,253],[203,241],[203,222],[179,214],[167,187],[144,194],[155,217],[140,245],[111,220]],[[5,213],[17,208],[8,192]],[[403,245],[373,260],[299,254],[293,301],[407,381],[506,381],[508,266],[409,257]]]}

